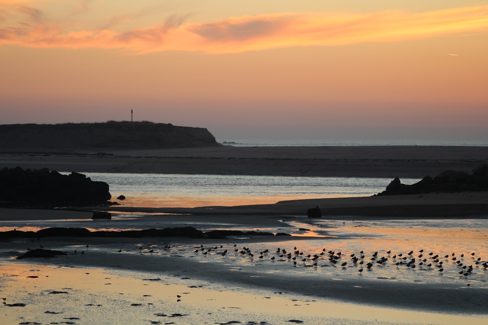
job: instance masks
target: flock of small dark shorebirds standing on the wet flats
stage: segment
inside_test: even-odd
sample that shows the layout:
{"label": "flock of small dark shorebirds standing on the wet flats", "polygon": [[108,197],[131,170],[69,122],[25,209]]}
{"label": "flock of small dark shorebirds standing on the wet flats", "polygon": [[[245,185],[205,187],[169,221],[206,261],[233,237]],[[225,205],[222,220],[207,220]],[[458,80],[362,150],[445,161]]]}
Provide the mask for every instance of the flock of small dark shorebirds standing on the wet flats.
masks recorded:
{"label": "flock of small dark shorebirds standing on the wet flats", "polygon": [[344,254],[342,252],[335,252],[332,250],[322,249],[318,253],[305,253],[294,247],[287,250],[277,248],[270,252],[264,249],[259,252],[253,252],[247,247],[238,248],[234,244],[232,248],[224,248],[221,246],[214,247],[196,247],[195,254],[203,255],[217,255],[226,256],[232,253],[243,258],[251,260],[271,260],[281,262],[291,262],[295,267],[325,267],[332,266],[338,268],[357,268],[357,272],[361,274],[365,270],[371,270],[376,267],[385,265],[396,266],[398,268],[410,269],[434,269],[438,272],[443,272],[448,264],[453,264],[457,268],[460,276],[468,277],[475,269],[488,271],[488,261],[482,260],[475,252],[470,253],[449,253],[438,254],[434,252],[426,252],[424,249],[410,250],[409,252],[392,253],[388,250],[381,254],[375,251],[372,254],[366,254],[363,250],[360,252],[353,252]]}

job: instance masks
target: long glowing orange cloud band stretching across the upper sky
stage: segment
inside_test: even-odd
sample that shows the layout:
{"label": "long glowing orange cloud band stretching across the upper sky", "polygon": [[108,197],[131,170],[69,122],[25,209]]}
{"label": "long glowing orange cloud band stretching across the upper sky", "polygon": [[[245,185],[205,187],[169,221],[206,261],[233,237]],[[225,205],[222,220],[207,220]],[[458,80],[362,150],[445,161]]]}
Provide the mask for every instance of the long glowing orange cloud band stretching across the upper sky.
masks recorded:
{"label": "long glowing orange cloud band stretching across the upper sky", "polygon": [[121,49],[143,54],[160,51],[241,53],[295,46],[338,46],[400,41],[457,33],[488,32],[488,6],[407,13],[310,13],[228,18],[184,23],[170,16],[164,23],[125,32],[75,30],[43,21],[41,11],[22,6],[27,22],[0,28],[0,44],[29,47]]}

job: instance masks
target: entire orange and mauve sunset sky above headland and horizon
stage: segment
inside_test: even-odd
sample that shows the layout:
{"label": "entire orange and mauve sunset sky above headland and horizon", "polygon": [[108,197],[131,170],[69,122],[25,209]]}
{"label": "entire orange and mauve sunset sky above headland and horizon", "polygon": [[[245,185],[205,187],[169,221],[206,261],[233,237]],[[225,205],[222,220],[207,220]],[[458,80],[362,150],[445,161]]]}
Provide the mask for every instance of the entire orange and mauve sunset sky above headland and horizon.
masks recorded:
{"label": "entire orange and mauve sunset sky above headland and horizon", "polygon": [[488,140],[486,0],[0,0],[0,124]]}

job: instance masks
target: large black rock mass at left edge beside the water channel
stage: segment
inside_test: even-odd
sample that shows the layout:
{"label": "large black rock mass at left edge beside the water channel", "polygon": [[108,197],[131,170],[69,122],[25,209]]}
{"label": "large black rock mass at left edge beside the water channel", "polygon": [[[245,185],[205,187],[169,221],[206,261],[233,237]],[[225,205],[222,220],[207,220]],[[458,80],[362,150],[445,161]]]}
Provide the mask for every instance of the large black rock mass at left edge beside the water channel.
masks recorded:
{"label": "large black rock mass at left edge beside the water channel", "polygon": [[59,207],[106,205],[111,198],[108,184],[83,174],[20,167],[0,170],[0,202],[12,207]]}

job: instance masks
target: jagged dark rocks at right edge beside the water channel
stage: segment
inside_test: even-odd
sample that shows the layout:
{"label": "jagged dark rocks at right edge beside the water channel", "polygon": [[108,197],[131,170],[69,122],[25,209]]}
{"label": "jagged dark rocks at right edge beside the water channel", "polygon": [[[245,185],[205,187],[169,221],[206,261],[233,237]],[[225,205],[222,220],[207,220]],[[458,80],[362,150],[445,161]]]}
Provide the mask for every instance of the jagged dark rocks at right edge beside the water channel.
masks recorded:
{"label": "jagged dark rocks at right edge beside the water channel", "polygon": [[421,181],[406,185],[396,177],[377,195],[405,195],[426,193],[453,193],[464,191],[488,191],[488,165],[475,168],[471,174],[459,171],[444,171],[435,176],[424,177]]}

